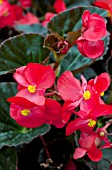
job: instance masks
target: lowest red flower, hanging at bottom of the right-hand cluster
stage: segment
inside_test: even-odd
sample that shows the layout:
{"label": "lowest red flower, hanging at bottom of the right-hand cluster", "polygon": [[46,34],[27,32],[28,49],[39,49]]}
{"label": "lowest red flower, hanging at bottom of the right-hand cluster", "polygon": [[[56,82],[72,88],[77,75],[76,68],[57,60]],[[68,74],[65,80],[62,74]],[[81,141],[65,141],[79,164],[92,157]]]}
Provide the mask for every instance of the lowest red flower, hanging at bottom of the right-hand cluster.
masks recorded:
{"label": "lowest red flower, hanging at bottom of the right-hand cluster", "polygon": [[92,134],[81,133],[79,139],[79,148],[75,149],[74,159],[82,158],[86,153],[88,157],[94,161],[98,162],[102,159],[102,141],[104,148],[109,148],[112,144],[106,139],[103,133],[93,132]]}

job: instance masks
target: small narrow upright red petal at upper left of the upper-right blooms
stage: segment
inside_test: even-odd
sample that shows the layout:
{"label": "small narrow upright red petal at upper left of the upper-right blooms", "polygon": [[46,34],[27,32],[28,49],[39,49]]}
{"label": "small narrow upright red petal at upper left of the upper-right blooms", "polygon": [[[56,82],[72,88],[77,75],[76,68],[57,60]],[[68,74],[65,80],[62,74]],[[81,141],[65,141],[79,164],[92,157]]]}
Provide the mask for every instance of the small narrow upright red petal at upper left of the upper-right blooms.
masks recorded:
{"label": "small narrow upright red petal at upper left of the upper-right blooms", "polygon": [[82,25],[83,27],[87,27],[88,26],[88,20],[90,17],[91,13],[88,10],[85,10],[83,15],[82,15]]}

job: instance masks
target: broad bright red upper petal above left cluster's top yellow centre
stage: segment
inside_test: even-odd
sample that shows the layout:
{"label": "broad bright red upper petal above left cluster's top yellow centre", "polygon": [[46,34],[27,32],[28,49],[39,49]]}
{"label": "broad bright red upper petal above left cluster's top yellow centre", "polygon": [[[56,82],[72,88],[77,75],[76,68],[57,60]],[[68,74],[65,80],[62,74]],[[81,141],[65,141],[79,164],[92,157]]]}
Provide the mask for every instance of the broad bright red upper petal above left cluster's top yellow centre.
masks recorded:
{"label": "broad bright red upper petal above left cluster's top yellow centre", "polygon": [[55,72],[51,66],[29,63],[25,70],[25,77],[31,85],[47,89],[54,83]]}

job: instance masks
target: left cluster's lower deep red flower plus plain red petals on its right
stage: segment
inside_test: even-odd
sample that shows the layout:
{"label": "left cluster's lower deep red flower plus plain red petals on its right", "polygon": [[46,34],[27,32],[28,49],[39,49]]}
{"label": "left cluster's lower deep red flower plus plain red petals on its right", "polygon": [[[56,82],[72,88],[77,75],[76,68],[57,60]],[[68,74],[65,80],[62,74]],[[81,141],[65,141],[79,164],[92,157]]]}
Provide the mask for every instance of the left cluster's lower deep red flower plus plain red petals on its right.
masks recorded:
{"label": "left cluster's lower deep red flower plus plain red petals on its right", "polygon": [[46,99],[44,106],[36,105],[23,97],[11,97],[10,116],[16,122],[27,128],[35,128],[42,124],[51,124],[62,128],[62,106],[53,99]]}

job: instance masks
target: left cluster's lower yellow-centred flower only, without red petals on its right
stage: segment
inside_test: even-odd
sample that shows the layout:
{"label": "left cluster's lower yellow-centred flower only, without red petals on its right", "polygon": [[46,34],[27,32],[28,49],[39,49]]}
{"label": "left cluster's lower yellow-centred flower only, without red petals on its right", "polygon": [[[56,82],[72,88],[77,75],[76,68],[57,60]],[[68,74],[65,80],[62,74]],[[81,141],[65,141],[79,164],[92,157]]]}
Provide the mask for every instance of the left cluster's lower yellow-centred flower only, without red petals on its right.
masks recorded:
{"label": "left cluster's lower yellow-centred flower only, without red petals on its right", "polygon": [[8,101],[12,103],[10,105],[10,116],[19,125],[36,128],[46,123],[43,106],[38,106],[22,97],[12,97]]}

